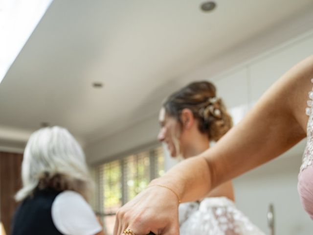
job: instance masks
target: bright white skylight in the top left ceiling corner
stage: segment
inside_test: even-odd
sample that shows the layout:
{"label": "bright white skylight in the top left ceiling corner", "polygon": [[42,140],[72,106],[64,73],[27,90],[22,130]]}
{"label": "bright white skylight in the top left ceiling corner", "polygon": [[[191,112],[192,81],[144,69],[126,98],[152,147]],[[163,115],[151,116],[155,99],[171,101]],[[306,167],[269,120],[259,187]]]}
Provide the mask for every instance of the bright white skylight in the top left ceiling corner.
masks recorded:
{"label": "bright white skylight in the top left ceiling corner", "polygon": [[0,1],[0,83],[51,2]]}

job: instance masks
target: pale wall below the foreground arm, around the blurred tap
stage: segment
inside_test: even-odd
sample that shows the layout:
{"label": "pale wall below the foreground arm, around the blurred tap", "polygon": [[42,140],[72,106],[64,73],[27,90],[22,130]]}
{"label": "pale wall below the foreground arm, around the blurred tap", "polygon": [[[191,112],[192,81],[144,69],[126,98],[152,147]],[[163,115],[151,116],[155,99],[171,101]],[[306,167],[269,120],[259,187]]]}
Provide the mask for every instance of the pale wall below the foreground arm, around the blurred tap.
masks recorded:
{"label": "pale wall below the foreground arm, around the blurred tap", "polygon": [[312,234],[312,220],[303,211],[297,193],[300,161],[300,156],[283,157],[234,180],[237,207],[267,234],[270,203],[275,209],[276,234]]}

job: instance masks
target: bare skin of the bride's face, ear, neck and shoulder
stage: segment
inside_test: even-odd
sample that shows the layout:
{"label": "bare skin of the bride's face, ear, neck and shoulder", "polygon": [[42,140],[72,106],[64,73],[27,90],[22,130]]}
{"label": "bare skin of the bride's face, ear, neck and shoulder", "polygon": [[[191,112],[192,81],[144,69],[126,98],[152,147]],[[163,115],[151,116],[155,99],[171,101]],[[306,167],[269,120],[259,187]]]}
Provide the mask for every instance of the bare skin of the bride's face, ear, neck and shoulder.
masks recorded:
{"label": "bare skin of the bride's face, ear, neck and shoulder", "polygon": [[[210,140],[206,133],[199,130],[199,122],[190,109],[183,109],[180,116],[181,126],[176,118],[166,115],[164,108],[159,112],[160,131],[157,135],[158,141],[164,142],[173,158],[182,155],[184,159],[201,154],[210,147]],[[175,145],[178,141],[179,147]],[[179,148],[179,149],[177,149]],[[234,191],[231,181],[210,191],[207,197],[227,197],[234,201]]]}

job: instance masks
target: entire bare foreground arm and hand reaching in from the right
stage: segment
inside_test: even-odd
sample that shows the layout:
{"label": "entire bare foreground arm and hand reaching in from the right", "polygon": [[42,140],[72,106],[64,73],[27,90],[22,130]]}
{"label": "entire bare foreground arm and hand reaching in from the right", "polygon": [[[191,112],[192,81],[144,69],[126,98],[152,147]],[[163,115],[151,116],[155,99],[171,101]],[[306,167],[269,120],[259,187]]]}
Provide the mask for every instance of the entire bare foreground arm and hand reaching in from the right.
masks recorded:
{"label": "entire bare foreground arm and hand reaching in from the right", "polygon": [[[305,108],[312,78],[310,56],[275,82],[216,145],[175,165],[150,185],[164,185],[182,201],[195,201],[223,182],[278,157],[306,137]],[[125,228],[136,235],[150,231],[179,235],[178,206],[171,190],[147,188],[117,212],[114,235],[121,235]]]}

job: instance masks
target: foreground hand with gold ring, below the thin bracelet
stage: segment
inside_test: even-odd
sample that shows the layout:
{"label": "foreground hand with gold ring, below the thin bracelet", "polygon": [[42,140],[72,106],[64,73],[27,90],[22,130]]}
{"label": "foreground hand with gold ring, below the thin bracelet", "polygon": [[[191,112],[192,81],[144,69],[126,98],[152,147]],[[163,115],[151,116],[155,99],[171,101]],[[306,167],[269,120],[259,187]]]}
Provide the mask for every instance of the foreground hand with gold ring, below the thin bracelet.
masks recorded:
{"label": "foreground hand with gold ring, below the thin bracelet", "polygon": [[177,196],[169,189],[146,188],[117,211],[113,235],[179,235]]}

